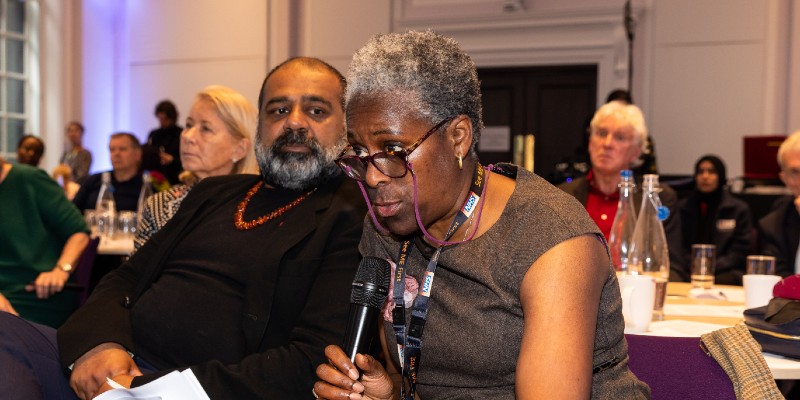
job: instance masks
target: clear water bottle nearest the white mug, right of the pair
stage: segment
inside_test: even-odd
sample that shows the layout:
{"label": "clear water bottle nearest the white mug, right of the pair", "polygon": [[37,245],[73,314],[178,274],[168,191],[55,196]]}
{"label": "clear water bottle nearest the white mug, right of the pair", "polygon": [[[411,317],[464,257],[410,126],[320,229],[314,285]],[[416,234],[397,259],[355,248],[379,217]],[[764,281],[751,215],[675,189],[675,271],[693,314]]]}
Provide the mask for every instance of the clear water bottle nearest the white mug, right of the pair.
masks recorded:
{"label": "clear water bottle nearest the white mug, right of the pair", "polygon": [[645,175],[642,181],[642,208],[633,231],[628,255],[628,271],[632,274],[652,276],[656,282],[656,300],[653,320],[664,319],[664,300],[667,298],[669,280],[669,249],[662,221],[669,210],[661,205],[658,193],[658,175]]}

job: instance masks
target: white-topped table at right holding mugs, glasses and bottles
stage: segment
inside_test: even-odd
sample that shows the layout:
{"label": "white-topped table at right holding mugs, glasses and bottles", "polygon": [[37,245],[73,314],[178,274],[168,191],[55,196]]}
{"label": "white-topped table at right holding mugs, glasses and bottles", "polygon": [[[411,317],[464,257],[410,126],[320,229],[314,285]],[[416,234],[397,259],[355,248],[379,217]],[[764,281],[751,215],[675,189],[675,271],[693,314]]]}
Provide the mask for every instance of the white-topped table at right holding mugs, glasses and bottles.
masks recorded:
{"label": "white-topped table at right holding mugs, glasses and bottles", "polygon": [[[724,296],[727,300],[695,298],[689,283],[667,284],[664,321],[653,322],[643,335],[699,337],[717,329],[744,321],[744,289],[741,286],[719,286],[706,296]],[[722,296],[719,295],[722,292]],[[696,293],[695,293],[696,294]],[[763,353],[775,379],[800,379],[800,361],[771,353]]]}

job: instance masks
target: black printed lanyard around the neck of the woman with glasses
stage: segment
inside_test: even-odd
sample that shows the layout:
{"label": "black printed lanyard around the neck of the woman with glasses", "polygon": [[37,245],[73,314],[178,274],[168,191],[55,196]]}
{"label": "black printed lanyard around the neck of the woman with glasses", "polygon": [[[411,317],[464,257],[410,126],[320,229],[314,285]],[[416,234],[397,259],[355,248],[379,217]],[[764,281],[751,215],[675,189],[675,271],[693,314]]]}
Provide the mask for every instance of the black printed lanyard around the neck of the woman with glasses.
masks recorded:
{"label": "black printed lanyard around the neck of the woman with glasses", "polygon": [[[478,202],[481,200],[480,195],[483,194],[481,189],[485,184],[485,178],[484,169],[478,164],[472,176],[470,194],[467,196],[461,211],[453,218],[444,241],[449,240],[477,208]],[[439,246],[428,262],[428,268],[420,284],[419,295],[414,300],[414,306],[411,310],[411,325],[408,328],[408,333],[406,333],[403,293],[406,288],[406,262],[411,253],[411,241],[406,240],[400,246],[400,255],[394,275],[394,292],[392,292],[395,304],[394,310],[392,310],[392,327],[397,337],[397,352],[400,355],[400,366],[403,369],[403,380],[400,386],[400,398],[402,400],[413,400],[416,392],[417,371],[419,370],[422,356],[422,330],[425,328],[425,322],[428,319],[428,305],[433,289],[433,276],[436,273],[436,266],[441,252],[442,246]],[[408,382],[408,393],[406,393],[405,382]]]}

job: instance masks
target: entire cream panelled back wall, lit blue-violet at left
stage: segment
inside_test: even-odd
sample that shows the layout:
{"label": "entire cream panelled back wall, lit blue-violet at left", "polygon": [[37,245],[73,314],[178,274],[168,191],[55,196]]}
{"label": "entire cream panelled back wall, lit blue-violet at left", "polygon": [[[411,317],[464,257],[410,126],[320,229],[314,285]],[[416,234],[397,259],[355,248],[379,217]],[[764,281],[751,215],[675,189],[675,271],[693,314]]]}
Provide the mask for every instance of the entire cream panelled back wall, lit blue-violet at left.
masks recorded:
{"label": "entire cream panelled back wall, lit blue-violet at left", "polygon": [[[162,98],[173,99],[182,117],[193,94],[211,83],[255,102],[265,72],[286,57],[321,57],[345,72],[352,52],[374,33],[433,28],[459,40],[480,66],[597,63],[598,101],[627,83],[624,0],[522,0],[514,12],[505,11],[507,0],[68,4],[75,2],[82,84],[63,89],[60,129],[49,134],[62,136],[69,110],[82,108],[87,136],[98,139],[90,144],[94,170],[107,163],[109,133],[132,130],[145,138]],[[742,136],[800,129],[800,113],[792,112],[800,109],[800,0],[633,4],[633,96],[664,173],[689,173],[699,155],[716,152],[728,175],[737,176]],[[69,105],[75,92],[81,107]]]}

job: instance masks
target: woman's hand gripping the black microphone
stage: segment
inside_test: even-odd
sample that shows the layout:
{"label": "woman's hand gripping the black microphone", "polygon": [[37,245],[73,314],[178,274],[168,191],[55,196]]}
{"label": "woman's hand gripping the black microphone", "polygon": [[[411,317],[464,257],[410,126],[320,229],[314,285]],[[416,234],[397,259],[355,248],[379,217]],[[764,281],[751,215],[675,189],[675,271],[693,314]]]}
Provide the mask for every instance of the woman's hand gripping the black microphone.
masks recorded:
{"label": "woman's hand gripping the black microphone", "polygon": [[328,364],[317,367],[321,379],[314,384],[314,394],[320,399],[392,399],[394,385],[381,363],[373,357],[356,355],[356,364],[363,371],[361,379],[356,365],[339,346],[325,348]]}

